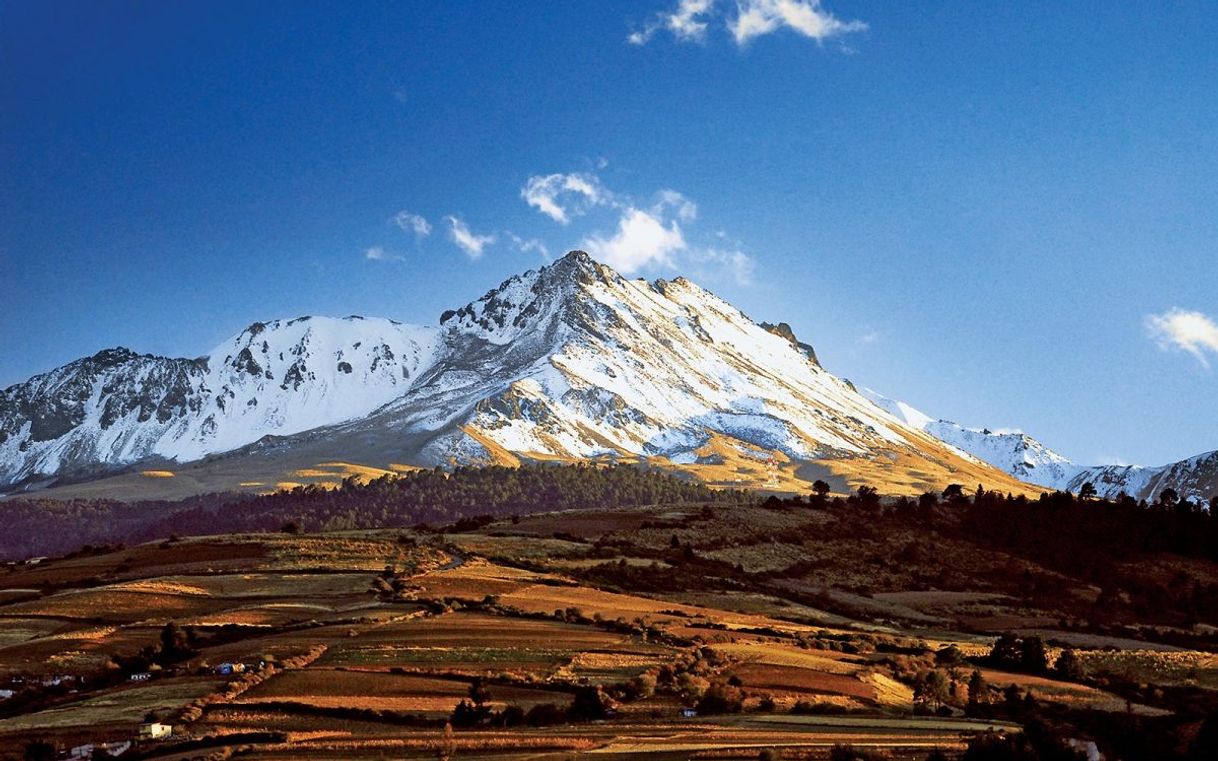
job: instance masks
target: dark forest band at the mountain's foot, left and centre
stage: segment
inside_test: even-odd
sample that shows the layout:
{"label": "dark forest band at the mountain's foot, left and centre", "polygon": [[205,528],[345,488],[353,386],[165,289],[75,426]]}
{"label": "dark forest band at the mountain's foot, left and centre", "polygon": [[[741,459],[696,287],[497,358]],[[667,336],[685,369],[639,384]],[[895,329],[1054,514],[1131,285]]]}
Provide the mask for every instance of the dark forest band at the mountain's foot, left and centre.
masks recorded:
{"label": "dark forest band at the mountain's foot, left and centre", "polygon": [[266,496],[211,494],[183,502],[16,499],[0,503],[0,556],[56,555],[82,545],[173,535],[341,531],[451,524],[464,517],[649,504],[750,502],[745,492],[626,465],[524,465],[419,470],[337,488],[301,486]]}

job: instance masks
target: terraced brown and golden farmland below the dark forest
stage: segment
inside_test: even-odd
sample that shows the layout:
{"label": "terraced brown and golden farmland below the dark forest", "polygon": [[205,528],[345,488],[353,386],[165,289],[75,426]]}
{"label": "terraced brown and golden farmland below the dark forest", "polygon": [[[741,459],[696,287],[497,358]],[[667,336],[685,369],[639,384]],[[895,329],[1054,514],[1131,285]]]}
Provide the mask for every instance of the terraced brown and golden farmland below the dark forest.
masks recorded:
{"label": "terraced brown and golden farmland below the dark forest", "polygon": [[145,720],[173,735],[128,757],[923,759],[1029,723],[1186,750],[1218,709],[1212,611],[1146,608],[1180,573],[1218,589],[1213,563],[1069,571],[970,535],[967,505],[905,510],[741,493],[11,564],[0,757]]}

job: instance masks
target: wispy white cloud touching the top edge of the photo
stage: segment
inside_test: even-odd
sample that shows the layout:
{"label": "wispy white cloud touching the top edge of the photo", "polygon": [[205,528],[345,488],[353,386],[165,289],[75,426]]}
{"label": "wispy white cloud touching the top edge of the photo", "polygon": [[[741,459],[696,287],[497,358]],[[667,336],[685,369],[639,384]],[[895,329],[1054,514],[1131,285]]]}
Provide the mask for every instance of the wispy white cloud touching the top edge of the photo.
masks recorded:
{"label": "wispy white cloud touching the top edge of the photo", "polygon": [[675,9],[657,13],[626,41],[646,45],[659,32],[670,32],[680,41],[703,41],[713,22],[721,22],[739,46],[780,29],[817,43],[867,29],[861,21],[839,19],[821,0],[678,0]]}

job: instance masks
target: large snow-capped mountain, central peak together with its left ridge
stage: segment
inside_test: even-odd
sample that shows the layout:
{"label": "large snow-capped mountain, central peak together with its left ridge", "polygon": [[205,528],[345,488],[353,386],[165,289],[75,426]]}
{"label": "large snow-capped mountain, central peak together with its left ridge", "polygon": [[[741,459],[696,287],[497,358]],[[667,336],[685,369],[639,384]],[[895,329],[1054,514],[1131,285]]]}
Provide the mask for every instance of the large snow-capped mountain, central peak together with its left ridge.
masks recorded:
{"label": "large snow-capped mountain, central peak together with its left ridge", "polygon": [[110,349],[0,393],[0,485],[225,452],[233,470],[285,453],[395,468],[618,458],[725,482],[764,463],[794,488],[1019,486],[877,408],[789,326],[582,252],[438,328],[259,323],[199,359]]}

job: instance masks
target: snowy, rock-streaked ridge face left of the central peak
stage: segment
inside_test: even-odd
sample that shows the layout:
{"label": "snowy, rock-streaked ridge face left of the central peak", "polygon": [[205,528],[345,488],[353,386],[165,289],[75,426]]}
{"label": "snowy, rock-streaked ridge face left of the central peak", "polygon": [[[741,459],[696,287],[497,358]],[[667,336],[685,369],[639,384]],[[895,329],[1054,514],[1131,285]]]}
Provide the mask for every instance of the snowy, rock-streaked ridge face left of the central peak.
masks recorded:
{"label": "snowy, rock-streaked ridge face left of the central peak", "polygon": [[192,460],[367,415],[426,369],[436,334],[300,318],[256,323],[199,359],[100,352],[0,392],[0,485]]}

